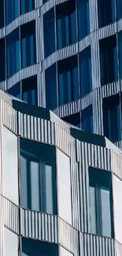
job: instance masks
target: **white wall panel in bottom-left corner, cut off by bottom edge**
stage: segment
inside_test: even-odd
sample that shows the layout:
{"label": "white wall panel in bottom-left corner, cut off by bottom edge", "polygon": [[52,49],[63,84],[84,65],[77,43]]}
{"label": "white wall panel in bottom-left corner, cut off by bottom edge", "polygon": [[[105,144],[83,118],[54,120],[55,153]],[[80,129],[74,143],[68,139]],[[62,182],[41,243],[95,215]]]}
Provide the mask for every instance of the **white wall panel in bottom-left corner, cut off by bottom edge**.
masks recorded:
{"label": "white wall panel in bottom-left corner, cut off by bottom edge", "polygon": [[18,256],[18,236],[8,228],[4,228],[4,256]]}

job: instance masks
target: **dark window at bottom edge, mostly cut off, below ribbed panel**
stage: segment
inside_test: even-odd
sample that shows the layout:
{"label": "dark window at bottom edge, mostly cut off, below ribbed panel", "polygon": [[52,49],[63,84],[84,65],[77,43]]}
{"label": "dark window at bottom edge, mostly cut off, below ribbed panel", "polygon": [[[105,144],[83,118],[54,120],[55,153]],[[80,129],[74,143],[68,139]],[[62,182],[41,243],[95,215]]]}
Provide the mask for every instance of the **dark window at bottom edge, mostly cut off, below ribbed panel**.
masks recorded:
{"label": "dark window at bottom edge, mostly cut off, below ribbed panel", "polygon": [[58,245],[22,237],[22,256],[58,256]]}

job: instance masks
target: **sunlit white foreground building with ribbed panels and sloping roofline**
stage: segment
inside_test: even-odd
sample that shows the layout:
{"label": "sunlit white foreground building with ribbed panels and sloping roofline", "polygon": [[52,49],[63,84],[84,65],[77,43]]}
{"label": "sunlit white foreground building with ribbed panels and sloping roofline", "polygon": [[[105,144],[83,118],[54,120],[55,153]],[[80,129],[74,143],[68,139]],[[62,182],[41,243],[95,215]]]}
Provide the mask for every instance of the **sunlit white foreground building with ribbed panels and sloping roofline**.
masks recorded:
{"label": "sunlit white foreground building with ribbed panels and sloping roofline", "polygon": [[122,152],[0,91],[0,255],[121,256]]}

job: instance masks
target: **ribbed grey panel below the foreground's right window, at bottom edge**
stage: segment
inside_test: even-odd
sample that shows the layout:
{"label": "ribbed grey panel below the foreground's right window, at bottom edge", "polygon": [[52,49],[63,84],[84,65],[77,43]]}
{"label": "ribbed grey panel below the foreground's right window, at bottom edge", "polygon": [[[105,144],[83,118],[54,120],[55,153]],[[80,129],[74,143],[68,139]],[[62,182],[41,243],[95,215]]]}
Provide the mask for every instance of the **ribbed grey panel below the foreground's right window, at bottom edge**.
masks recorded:
{"label": "ribbed grey panel below the foreground's right window, at bottom edge", "polygon": [[[114,239],[80,233],[80,252],[82,256],[115,256]],[[121,254],[120,254],[121,255]]]}

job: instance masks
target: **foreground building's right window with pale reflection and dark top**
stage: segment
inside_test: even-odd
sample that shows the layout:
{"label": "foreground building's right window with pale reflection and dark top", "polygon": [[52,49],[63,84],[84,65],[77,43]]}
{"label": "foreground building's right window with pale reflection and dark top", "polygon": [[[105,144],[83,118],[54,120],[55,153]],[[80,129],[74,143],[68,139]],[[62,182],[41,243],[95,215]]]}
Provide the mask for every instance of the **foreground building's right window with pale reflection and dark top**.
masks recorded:
{"label": "foreground building's right window with pale reflection and dark top", "polygon": [[113,237],[111,173],[89,168],[91,232]]}

